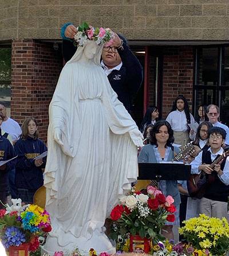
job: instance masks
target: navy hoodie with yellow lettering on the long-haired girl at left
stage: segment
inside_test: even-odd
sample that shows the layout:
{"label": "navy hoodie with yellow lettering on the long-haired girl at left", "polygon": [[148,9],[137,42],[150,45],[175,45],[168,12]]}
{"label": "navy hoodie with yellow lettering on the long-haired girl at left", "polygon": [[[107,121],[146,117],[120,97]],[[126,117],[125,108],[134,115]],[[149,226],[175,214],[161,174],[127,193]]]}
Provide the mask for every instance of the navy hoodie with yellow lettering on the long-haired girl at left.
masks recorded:
{"label": "navy hoodie with yellow lettering on the long-haired girl at left", "polygon": [[15,153],[18,155],[15,185],[17,188],[37,190],[44,184],[42,168],[45,168],[46,157],[43,158],[44,164],[35,166],[34,158],[47,150],[45,144],[40,139],[27,137],[19,139],[14,146]]}

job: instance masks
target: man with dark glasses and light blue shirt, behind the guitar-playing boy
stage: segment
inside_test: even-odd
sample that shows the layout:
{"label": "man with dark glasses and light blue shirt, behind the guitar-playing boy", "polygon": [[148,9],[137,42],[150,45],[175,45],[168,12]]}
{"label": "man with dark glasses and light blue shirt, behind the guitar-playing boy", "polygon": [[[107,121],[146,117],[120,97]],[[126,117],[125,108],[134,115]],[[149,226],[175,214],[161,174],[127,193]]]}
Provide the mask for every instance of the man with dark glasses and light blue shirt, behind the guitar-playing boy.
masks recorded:
{"label": "man with dark glasses and light blue shirt, behind the guitar-playing boy", "polygon": [[216,105],[208,105],[207,106],[207,117],[209,119],[209,122],[214,126],[214,127],[220,127],[226,131],[226,138],[225,138],[225,145],[229,145],[229,128],[226,125],[223,125],[223,123],[220,123],[218,121],[219,118],[219,107]]}

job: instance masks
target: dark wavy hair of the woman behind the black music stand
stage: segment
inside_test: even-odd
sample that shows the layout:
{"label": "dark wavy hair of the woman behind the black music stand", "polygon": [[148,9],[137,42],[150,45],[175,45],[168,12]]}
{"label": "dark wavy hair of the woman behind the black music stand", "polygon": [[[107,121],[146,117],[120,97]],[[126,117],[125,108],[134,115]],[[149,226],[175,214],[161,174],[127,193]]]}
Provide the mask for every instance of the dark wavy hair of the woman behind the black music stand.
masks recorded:
{"label": "dark wavy hair of the woman behind the black music stand", "polygon": [[155,123],[155,125],[153,126],[153,129],[151,131],[149,131],[149,143],[151,143],[152,145],[158,146],[157,145],[157,139],[156,139],[156,133],[159,133],[159,129],[161,126],[165,125],[168,129],[168,140],[165,144],[165,148],[167,148],[167,146],[171,147],[173,150],[173,146],[172,143],[174,142],[174,137],[173,137],[173,130],[171,125],[169,124],[169,122],[165,121],[165,120],[159,120]]}

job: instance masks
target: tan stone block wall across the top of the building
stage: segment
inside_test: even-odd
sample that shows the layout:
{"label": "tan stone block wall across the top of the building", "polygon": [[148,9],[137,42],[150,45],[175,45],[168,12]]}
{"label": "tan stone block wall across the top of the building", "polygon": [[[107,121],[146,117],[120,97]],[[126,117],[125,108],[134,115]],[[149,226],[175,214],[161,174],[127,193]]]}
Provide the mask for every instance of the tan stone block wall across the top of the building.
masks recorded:
{"label": "tan stone block wall across the top of the building", "polygon": [[0,0],[0,40],[60,38],[68,21],[132,40],[228,40],[229,0]]}

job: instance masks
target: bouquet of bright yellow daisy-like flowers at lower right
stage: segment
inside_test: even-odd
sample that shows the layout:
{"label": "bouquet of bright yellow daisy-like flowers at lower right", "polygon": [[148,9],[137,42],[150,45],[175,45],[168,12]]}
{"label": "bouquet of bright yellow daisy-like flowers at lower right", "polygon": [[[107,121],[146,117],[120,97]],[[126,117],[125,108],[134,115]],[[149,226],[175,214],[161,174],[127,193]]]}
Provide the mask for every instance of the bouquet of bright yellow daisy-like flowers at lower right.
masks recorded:
{"label": "bouquet of bright yellow daisy-like flowers at lower right", "polygon": [[196,249],[207,249],[211,255],[226,255],[229,249],[229,224],[226,218],[210,218],[200,214],[183,222],[179,229],[186,242]]}

